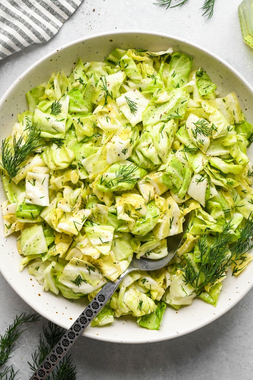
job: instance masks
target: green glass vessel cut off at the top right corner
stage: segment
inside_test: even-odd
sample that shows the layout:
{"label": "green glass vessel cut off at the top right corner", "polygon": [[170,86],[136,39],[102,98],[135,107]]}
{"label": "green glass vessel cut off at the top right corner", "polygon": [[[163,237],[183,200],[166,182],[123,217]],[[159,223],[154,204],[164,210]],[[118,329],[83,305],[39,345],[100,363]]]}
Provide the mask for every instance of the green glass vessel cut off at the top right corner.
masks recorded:
{"label": "green glass vessel cut off at the top right corner", "polygon": [[238,6],[238,13],[243,39],[253,48],[253,0],[244,0]]}

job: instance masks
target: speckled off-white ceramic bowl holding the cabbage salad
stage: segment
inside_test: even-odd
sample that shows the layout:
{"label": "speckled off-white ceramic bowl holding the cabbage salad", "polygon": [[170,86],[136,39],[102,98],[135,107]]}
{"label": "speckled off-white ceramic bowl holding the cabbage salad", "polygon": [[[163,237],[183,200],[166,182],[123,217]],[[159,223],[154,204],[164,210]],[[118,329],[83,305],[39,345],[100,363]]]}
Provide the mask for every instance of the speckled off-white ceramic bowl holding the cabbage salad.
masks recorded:
{"label": "speckled off-white ceramic bowl holding the cabbage salad", "polygon": [[[200,66],[217,84],[220,96],[236,92],[242,111],[247,120],[253,122],[253,109],[249,103],[253,98],[253,89],[244,78],[228,63],[204,48],[179,38],[152,32],[107,32],[93,35],[69,43],[46,57],[38,60],[18,78],[0,101],[0,130],[2,138],[10,135],[16,115],[27,109],[25,92],[47,81],[53,71],[63,68],[66,74],[72,70],[74,62],[81,57],[84,62],[104,60],[116,47],[122,49],[137,48],[149,51],[166,50],[172,47],[175,52],[191,55],[193,68]],[[253,153],[253,151],[252,151]],[[253,154],[251,154],[253,156]],[[5,199],[2,184],[1,199]],[[1,218],[2,250],[0,253],[0,270],[19,296],[36,312],[48,320],[68,329],[72,320],[77,318],[85,308],[83,299],[69,301],[51,292],[44,292],[36,280],[28,275],[26,269],[19,272],[20,256],[16,248],[16,236],[3,237]],[[178,312],[167,308],[159,331],[141,328],[134,318],[121,317],[110,326],[87,328],[84,335],[109,342],[145,343],[171,339],[194,331],[220,317],[231,309],[253,286],[253,264],[249,264],[237,278],[228,276],[223,281],[223,288],[216,308],[195,299],[192,306],[182,307]],[[8,296],[8,295],[6,295]]]}

